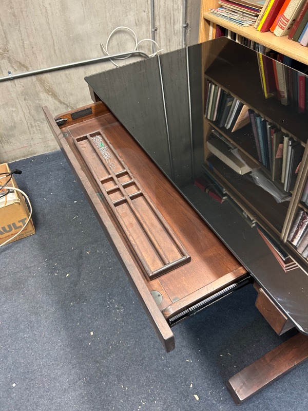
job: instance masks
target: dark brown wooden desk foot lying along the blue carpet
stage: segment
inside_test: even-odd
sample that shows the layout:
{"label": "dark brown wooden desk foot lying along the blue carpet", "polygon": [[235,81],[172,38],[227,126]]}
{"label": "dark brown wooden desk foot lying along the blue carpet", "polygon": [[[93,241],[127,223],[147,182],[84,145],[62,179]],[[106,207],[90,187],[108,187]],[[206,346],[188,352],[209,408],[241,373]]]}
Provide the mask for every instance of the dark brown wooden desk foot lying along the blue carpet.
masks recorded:
{"label": "dark brown wooden desk foot lying along the blue carpet", "polygon": [[238,372],[226,386],[234,401],[241,404],[307,359],[308,337],[298,333]]}

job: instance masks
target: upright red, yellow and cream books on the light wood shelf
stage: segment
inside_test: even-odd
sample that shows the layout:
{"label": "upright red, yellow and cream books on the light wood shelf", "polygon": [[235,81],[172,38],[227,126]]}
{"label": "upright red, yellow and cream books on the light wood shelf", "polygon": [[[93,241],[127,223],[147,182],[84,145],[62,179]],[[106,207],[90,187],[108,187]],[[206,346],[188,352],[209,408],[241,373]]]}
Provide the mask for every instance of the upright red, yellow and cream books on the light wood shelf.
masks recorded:
{"label": "upright red, yellow and cream books on the light wood shelf", "polygon": [[277,36],[287,35],[307,46],[307,13],[308,0],[266,0],[254,27],[260,32],[270,30]]}

